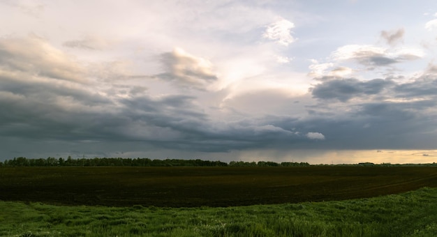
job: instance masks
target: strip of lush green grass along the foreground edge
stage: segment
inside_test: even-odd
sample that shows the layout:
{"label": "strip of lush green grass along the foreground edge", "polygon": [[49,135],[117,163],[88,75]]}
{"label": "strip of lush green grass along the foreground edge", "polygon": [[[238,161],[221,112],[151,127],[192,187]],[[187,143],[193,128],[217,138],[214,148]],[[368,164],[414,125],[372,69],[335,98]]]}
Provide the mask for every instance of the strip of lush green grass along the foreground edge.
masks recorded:
{"label": "strip of lush green grass along the foreground edge", "polygon": [[346,201],[236,207],[0,201],[0,236],[437,236],[437,188]]}

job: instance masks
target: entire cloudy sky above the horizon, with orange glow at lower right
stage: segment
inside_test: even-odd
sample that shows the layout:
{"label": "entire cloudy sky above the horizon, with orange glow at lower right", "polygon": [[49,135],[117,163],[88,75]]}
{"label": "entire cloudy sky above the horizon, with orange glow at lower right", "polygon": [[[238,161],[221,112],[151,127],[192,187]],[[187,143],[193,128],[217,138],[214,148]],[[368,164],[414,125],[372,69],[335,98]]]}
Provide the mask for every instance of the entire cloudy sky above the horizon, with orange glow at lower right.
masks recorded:
{"label": "entire cloudy sky above the horizon, with orange glow at lower right", "polygon": [[0,0],[0,161],[437,160],[437,2]]}

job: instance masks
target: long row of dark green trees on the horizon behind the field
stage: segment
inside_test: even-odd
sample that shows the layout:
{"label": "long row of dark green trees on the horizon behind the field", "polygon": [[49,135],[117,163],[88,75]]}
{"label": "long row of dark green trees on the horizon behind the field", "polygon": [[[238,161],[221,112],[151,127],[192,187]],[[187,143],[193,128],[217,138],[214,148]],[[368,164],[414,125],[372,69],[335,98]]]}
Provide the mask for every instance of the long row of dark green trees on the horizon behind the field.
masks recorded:
{"label": "long row of dark green trees on the horizon behind the field", "polygon": [[290,167],[309,166],[307,162],[244,162],[231,161],[229,163],[212,160],[182,160],[165,159],[151,160],[149,158],[78,158],[68,156],[64,158],[38,158],[28,159],[24,157],[13,158],[0,162],[0,167],[96,167],[96,166],[117,166],[117,167]]}

